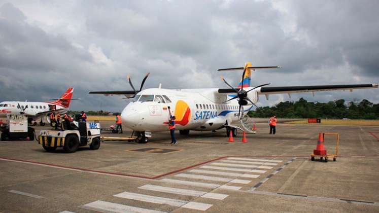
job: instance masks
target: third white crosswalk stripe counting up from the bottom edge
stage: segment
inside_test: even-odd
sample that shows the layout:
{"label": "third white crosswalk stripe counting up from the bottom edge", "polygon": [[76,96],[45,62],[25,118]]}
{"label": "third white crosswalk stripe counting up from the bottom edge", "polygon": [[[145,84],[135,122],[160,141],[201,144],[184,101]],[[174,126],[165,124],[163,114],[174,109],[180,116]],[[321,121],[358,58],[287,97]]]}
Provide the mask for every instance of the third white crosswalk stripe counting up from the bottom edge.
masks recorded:
{"label": "third white crosswalk stripe counting up from the bottom edge", "polygon": [[162,187],[162,186],[156,186],[156,185],[150,185],[150,184],[139,187],[139,189],[151,190],[151,191],[156,191],[156,192],[166,192],[166,193],[178,194],[178,195],[188,195],[188,196],[196,196],[196,197],[201,196],[201,197],[217,199],[217,200],[222,200],[228,196],[228,195],[218,194],[218,193],[207,193],[204,191],[179,189],[179,188],[173,188],[173,187]]}

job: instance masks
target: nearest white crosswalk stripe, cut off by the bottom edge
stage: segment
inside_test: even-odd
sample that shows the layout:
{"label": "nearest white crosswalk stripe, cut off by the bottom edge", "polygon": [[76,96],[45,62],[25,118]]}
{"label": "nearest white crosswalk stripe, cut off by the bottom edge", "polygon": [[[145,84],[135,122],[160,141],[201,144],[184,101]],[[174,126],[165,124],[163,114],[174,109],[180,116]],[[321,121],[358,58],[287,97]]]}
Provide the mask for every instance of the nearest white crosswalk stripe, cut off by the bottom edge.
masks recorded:
{"label": "nearest white crosswalk stripe, cut off by the bottom edge", "polygon": [[106,212],[139,212],[139,213],[163,213],[165,211],[156,211],[147,208],[139,208],[129,205],[122,205],[118,203],[111,203],[106,201],[97,200],[83,205],[84,207],[92,210],[104,210]]}

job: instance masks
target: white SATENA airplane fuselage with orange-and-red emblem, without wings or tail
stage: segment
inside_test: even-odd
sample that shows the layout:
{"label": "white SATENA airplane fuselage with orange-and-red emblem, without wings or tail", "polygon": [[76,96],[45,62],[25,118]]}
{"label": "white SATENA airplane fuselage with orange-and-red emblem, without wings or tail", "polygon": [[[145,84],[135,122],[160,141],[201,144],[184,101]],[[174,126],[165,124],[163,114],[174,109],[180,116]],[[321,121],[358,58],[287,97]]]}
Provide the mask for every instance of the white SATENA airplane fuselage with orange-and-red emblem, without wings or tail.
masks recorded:
{"label": "white SATENA airplane fuselage with orange-and-red emblem, without wings or tail", "polygon": [[[141,101],[142,98],[151,101]],[[216,130],[238,120],[238,101],[234,99],[224,103],[227,98],[230,96],[218,93],[218,88],[145,89],[137,93],[122,111],[122,124],[135,131],[167,131],[164,122],[169,120],[170,110],[176,116],[178,130]],[[257,102],[256,91],[251,91],[249,98]],[[163,101],[159,101],[161,99]],[[247,112],[250,108],[251,105],[245,105],[241,110]]]}

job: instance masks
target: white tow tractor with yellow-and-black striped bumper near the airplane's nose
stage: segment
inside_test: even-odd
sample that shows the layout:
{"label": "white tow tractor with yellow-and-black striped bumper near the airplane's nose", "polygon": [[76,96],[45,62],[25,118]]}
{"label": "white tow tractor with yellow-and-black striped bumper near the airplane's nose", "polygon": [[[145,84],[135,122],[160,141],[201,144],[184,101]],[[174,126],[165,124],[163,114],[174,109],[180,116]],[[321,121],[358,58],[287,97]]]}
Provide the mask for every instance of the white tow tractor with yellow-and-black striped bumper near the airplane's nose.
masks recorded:
{"label": "white tow tractor with yellow-and-black striped bumper near the airplane's nose", "polygon": [[91,150],[97,150],[100,148],[100,123],[63,121],[58,129],[41,130],[38,143],[47,152],[62,147],[66,153],[73,153],[88,145]]}

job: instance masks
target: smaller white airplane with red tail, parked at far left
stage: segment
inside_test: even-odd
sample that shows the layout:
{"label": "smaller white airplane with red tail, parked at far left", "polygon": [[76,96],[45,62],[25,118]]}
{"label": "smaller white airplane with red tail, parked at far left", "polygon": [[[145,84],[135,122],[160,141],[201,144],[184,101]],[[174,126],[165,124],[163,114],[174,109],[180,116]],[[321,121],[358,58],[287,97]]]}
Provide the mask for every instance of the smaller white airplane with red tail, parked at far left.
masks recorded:
{"label": "smaller white airplane with red tail, parked at far left", "polygon": [[[44,126],[43,118],[50,123],[50,118],[46,116],[50,113],[63,114],[68,111],[71,100],[78,98],[71,98],[73,96],[74,88],[68,88],[57,99],[50,99],[46,102],[29,102],[29,101],[3,101],[0,103],[0,119],[6,118],[7,114],[22,113],[28,116],[28,122],[37,124],[36,120],[41,118],[40,125]],[[1,121],[4,123],[4,121]]]}

